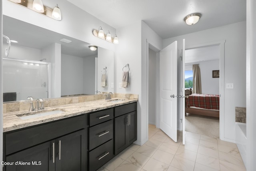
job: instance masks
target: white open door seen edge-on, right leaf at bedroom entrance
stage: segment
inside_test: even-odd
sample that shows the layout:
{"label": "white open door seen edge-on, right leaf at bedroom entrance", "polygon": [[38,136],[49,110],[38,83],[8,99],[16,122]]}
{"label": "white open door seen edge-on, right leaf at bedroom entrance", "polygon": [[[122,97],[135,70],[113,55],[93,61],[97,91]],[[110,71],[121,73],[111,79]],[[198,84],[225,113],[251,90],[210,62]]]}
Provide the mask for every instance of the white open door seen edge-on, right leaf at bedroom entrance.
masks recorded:
{"label": "white open door seen edge-on, right leaf at bedroom entrance", "polygon": [[182,143],[185,144],[185,39],[182,41]]}

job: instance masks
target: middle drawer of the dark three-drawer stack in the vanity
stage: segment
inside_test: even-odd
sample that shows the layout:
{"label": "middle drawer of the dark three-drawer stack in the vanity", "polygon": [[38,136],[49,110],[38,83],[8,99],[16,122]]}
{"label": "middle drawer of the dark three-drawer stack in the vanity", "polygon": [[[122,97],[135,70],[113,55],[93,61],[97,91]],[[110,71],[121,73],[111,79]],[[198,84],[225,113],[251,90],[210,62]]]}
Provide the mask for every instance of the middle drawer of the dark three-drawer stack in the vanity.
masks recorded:
{"label": "middle drawer of the dark three-drawer stack in the vanity", "polygon": [[113,120],[89,128],[89,150],[113,138]]}

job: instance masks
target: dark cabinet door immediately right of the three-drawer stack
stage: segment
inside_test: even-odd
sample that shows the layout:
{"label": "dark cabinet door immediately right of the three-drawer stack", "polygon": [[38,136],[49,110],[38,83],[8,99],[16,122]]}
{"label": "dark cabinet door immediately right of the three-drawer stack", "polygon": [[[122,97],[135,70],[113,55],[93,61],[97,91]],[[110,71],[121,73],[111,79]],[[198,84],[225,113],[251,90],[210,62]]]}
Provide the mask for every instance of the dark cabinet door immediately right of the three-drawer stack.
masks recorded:
{"label": "dark cabinet door immediately right of the three-drawer stack", "polygon": [[126,148],[127,145],[127,115],[115,118],[115,155]]}

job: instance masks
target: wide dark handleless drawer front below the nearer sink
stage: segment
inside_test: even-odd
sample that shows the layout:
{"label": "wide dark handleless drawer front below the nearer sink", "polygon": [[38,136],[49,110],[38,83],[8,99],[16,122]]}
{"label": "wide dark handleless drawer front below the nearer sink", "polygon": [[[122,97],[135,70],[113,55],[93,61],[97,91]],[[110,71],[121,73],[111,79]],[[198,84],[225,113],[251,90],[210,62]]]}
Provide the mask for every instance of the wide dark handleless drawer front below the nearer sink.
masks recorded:
{"label": "wide dark handleless drawer front below the nearer sink", "polygon": [[86,116],[79,115],[6,132],[4,133],[5,155],[78,131],[79,129],[84,129],[86,125]]}

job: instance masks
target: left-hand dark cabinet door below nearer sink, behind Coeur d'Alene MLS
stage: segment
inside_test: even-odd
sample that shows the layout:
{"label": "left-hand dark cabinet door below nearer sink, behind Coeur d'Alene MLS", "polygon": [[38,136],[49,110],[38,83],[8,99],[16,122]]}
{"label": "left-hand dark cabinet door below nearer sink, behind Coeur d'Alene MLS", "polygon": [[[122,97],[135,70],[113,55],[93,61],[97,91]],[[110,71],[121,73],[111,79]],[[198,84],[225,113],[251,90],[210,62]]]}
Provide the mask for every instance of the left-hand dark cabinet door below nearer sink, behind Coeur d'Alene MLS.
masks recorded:
{"label": "left-hand dark cabinet door below nearer sink, behind Coeur d'Alene MLS", "polygon": [[[7,162],[14,162],[6,166],[6,171],[54,171],[53,144],[55,141],[48,141],[40,145],[22,150],[6,157]],[[16,163],[18,162],[18,163]],[[30,162],[20,163],[20,162]],[[26,164],[26,165],[25,165]]]}

